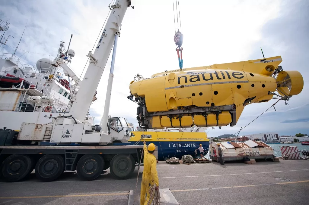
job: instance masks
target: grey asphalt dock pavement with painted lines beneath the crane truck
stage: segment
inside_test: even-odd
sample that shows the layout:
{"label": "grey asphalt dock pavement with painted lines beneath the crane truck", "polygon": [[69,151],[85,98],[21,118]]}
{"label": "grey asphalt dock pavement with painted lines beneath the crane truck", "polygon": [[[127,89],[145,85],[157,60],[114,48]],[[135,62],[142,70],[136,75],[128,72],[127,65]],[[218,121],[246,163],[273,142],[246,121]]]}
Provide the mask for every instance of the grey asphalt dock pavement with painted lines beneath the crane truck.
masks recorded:
{"label": "grey asphalt dock pavement with painted lines beneath the crane truck", "polygon": [[[159,188],[171,189],[181,205],[308,204],[309,160],[225,166],[217,162],[160,162],[157,170]],[[81,181],[76,172],[66,172],[57,181],[40,182],[32,173],[22,182],[0,182],[0,204],[127,205],[128,191],[135,189],[137,174],[138,168],[131,179],[119,181],[106,171],[94,181]],[[138,192],[140,184],[141,179]]]}

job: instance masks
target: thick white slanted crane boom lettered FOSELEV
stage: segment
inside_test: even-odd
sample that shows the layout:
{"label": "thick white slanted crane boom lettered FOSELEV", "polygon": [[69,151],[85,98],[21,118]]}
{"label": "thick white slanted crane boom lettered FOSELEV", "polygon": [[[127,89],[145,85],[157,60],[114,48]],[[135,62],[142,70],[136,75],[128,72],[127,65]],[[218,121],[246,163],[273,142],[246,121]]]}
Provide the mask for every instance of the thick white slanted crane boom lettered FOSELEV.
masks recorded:
{"label": "thick white slanted crane boom lettered FOSELEV", "polygon": [[94,54],[89,51],[90,64],[85,73],[82,86],[79,88],[69,115],[79,121],[84,121],[91,105],[95,90],[103,74],[110,51],[112,50],[115,35],[120,35],[121,22],[130,5],[130,0],[118,0],[112,6],[112,12],[100,36]]}

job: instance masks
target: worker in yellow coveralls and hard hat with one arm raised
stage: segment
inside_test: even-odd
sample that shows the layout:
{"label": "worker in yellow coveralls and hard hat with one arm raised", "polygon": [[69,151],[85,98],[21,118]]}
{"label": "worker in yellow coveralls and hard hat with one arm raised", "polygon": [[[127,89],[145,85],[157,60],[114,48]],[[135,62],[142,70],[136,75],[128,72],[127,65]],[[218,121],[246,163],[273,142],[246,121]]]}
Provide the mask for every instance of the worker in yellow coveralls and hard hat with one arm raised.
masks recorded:
{"label": "worker in yellow coveralls and hard hat with one arm raised", "polygon": [[[144,171],[142,177],[142,187],[141,187],[141,205],[146,205],[150,200],[152,203],[152,199],[150,199],[149,189],[151,185],[155,184],[155,190],[159,189],[159,178],[157,172],[157,158],[153,155],[155,151],[155,144],[150,143],[148,145],[148,149],[146,146],[146,142],[144,141]],[[147,193],[147,197],[146,196]],[[146,198],[146,199],[145,199]]]}

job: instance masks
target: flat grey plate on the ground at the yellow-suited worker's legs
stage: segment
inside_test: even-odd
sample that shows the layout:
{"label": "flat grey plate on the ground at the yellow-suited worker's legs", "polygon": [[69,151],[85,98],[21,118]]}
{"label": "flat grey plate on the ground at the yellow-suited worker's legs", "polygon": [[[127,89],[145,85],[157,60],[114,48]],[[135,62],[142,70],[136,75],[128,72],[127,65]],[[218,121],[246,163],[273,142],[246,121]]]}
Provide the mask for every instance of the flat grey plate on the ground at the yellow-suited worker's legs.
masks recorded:
{"label": "flat grey plate on the ground at the yellow-suited worker's legs", "polygon": [[[160,205],[180,205],[170,189],[159,189],[160,191]],[[130,190],[128,205],[133,205],[134,202],[134,190]],[[134,205],[139,204],[139,193],[135,195],[135,203]],[[152,204],[152,203],[151,203]]]}

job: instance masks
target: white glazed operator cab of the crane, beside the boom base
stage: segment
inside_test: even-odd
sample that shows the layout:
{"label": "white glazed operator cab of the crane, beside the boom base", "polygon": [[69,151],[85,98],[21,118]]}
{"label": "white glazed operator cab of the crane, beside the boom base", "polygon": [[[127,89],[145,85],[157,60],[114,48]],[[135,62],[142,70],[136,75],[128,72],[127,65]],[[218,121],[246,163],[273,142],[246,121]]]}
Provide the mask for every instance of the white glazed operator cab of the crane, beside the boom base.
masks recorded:
{"label": "white glazed operator cab of the crane, beside the boom base", "polygon": [[130,137],[128,120],[125,117],[110,117],[108,119],[108,132],[112,134],[114,142],[127,142]]}

